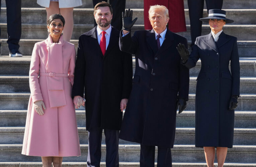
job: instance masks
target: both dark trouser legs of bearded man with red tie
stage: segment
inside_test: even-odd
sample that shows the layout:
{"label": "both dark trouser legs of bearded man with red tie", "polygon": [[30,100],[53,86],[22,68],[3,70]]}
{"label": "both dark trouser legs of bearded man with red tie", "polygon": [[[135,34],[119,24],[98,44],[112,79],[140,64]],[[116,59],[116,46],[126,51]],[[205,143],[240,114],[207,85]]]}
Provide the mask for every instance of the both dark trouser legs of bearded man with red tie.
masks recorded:
{"label": "both dark trouser legs of bearded man with red tie", "polygon": [[[88,132],[87,167],[100,167],[102,129]],[[119,131],[104,129],[106,143],[106,167],[119,167],[118,144]]]}

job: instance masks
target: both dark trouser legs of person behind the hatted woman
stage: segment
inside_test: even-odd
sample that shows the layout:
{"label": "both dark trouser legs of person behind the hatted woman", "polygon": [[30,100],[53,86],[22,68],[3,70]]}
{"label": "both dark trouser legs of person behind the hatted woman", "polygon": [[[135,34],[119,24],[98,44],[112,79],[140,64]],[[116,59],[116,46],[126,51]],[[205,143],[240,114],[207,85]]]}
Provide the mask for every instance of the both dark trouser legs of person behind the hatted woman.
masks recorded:
{"label": "both dark trouser legs of person behind the hatted woman", "polygon": [[[205,0],[207,12],[209,9],[221,9],[223,0]],[[204,0],[187,0],[190,20],[191,46],[194,45],[195,39],[201,36]]]}

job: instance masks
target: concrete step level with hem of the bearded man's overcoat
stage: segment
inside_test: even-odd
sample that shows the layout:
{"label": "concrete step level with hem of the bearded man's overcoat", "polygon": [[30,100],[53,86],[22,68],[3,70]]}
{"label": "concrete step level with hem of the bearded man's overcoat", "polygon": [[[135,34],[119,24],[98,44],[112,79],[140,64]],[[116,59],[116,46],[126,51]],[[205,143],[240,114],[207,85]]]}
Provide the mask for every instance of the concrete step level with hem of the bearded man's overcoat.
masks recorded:
{"label": "concrete step level with hem of the bearded man's overcoat", "polygon": [[[256,127],[255,127],[256,128]],[[234,145],[255,145],[256,129],[235,128]],[[22,144],[25,127],[0,127],[0,144]],[[78,127],[80,144],[88,144],[88,131],[85,127]],[[102,133],[102,144],[105,135]],[[119,144],[136,144],[119,140]],[[176,128],[174,144],[195,144],[195,128]]]}

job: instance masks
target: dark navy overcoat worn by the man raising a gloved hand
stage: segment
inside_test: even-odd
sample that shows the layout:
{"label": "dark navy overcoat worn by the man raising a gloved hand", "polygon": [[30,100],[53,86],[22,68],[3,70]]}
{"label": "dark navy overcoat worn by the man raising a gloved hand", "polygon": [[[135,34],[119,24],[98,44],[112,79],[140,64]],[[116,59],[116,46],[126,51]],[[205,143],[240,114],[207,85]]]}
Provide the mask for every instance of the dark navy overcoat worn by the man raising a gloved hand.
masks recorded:
{"label": "dark navy overcoat worn by the man raising a gloved hand", "polygon": [[135,54],[132,92],[120,139],[144,145],[173,147],[177,98],[188,99],[189,69],[180,63],[176,46],[186,38],[167,30],[160,49],[154,30],[122,37],[120,49]]}

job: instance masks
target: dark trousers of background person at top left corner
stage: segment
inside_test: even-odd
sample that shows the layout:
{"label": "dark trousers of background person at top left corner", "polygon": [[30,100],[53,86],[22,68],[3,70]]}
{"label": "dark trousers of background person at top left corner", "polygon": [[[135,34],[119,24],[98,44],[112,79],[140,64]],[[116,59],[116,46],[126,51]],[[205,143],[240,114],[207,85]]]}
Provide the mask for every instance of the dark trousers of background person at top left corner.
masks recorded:
{"label": "dark trousers of background person at top left corner", "polygon": [[[7,35],[8,47],[19,49],[19,40],[21,37],[21,0],[5,0],[7,16]],[[1,8],[1,1],[0,1]],[[1,29],[0,29],[1,36]],[[0,45],[1,46],[1,45]]]}

